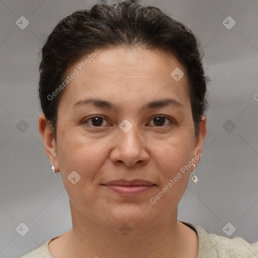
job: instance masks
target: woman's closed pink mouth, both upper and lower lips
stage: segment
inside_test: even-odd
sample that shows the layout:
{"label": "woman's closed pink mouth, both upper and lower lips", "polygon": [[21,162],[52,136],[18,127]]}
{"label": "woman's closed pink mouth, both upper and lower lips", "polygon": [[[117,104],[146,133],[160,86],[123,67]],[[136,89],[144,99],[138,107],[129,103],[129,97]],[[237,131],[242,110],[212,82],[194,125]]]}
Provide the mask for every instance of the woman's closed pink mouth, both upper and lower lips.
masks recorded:
{"label": "woman's closed pink mouth, both upper and lower lips", "polygon": [[154,183],[140,179],[134,179],[131,181],[115,180],[102,185],[124,197],[136,197],[142,195],[144,192],[156,186]]}

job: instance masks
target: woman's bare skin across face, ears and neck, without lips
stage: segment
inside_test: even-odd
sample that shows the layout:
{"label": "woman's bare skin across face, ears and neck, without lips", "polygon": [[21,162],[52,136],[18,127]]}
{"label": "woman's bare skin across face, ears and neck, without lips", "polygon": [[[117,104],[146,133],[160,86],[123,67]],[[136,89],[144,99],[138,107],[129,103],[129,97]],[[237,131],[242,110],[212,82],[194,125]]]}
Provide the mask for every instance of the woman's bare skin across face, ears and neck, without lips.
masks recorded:
{"label": "woman's bare skin across face, ears and neck, without lips", "polygon": [[[177,206],[193,166],[155,204],[150,202],[202,152],[206,117],[196,138],[186,71],[163,51],[140,47],[99,51],[63,92],[56,141],[44,114],[38,121],[46,154],[55,171],[61,172],[73,220],[73,229],[49,243],[50,253],[53,258],[197,257],[197,234],[177,221]],[[85,58],[69,68],[67,75]],[[170,76],[177,67],[184,73],[179,81]],[[73,107],[88,97],[110,101],[117,109],[92,104]],[[142,110],[149,101],[166,98],[183,107]],[[104,118],[100,126],[89,119],[92,115]],[[158,123],[153,119],[164,115],[172,120]],[[127,133],[119,128],[124,119],[132,124]],[[81,176],[76,184],[68,179],[72,171]],[[134,178],[156,185],[133,198],[101,185]],[[124,223],[132,228],[128,235],[119,230]]]}

